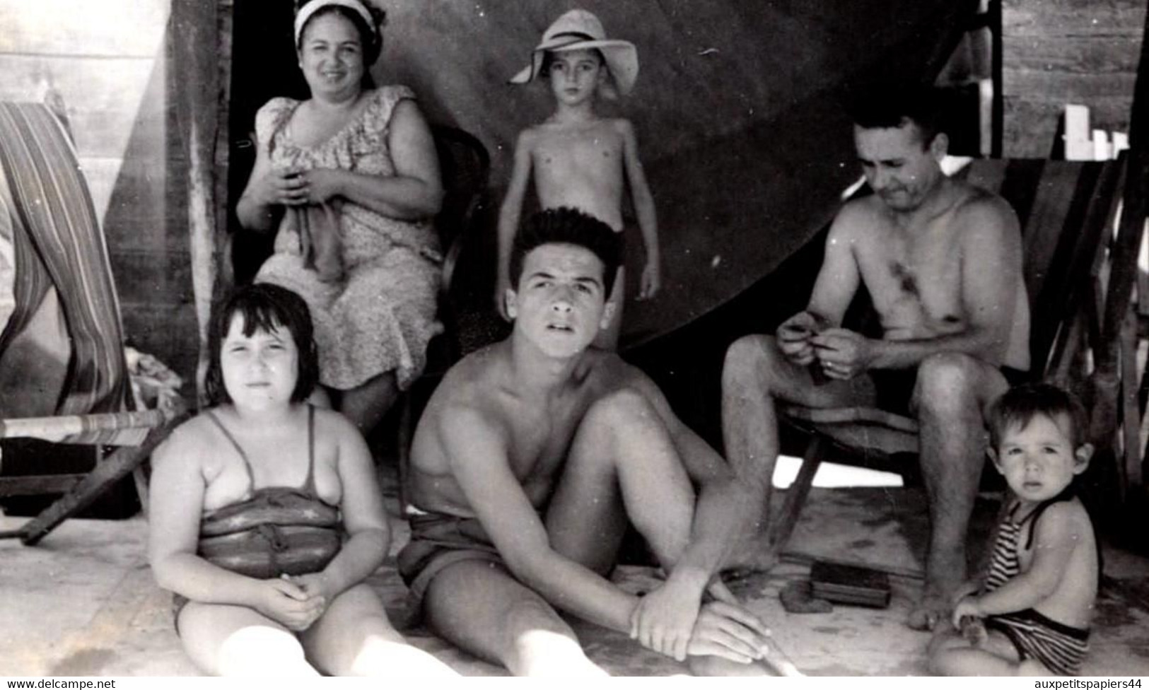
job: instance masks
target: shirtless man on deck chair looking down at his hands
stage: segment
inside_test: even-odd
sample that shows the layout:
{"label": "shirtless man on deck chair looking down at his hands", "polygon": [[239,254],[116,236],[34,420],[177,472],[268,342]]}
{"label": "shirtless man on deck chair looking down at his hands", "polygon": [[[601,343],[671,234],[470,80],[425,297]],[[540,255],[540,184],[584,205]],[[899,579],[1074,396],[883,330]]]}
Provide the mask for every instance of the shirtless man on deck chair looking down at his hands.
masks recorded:
{"label": "shirtless man on deck chair looking down at his hands", "polygon": [[[966,575],[985,413],[1030,369],[1020,231],[1004,200],[942,172],[948,139],[938,131],[933,93],[873,93],[850,115],[873,194],[834,218],[805,310],[776,336],[749,335],[727,350],[723,436],[730,462],[765,496],[759,548],[769,560],[780,546],[765,542],[764,529],[778,457],[776,401],[878,404],[915,416],[931,537],[923,599],[908,623],[932,628],[947,620]],[[841,327],[863,285],[881,339]]]}

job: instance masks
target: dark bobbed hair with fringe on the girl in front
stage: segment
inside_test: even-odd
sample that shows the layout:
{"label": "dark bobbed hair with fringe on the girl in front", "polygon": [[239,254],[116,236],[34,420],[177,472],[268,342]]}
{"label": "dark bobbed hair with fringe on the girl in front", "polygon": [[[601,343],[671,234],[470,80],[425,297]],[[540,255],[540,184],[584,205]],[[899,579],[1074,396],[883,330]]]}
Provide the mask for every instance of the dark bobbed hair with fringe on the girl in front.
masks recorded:
{"label": "dark bobbed hair with fringe on the girl in front", "polygon": [[219,357],[223,341],[231,330],[231,320],[236,315],[244,317],[244,335],[250,336],[256,328],[273,331],[286,328],[295,342],[299,352],[295,389],[291,402],[301,403],[307,400],[319,380],[319,356],[315,347],[311,312],[307,302],[292,290],[256,282],[238,288],[215,310],[208,330],[208,371],[203,386],[207,389],[208,402],[213,405],[230,403],[231,396],[223,382],[223,367]]}

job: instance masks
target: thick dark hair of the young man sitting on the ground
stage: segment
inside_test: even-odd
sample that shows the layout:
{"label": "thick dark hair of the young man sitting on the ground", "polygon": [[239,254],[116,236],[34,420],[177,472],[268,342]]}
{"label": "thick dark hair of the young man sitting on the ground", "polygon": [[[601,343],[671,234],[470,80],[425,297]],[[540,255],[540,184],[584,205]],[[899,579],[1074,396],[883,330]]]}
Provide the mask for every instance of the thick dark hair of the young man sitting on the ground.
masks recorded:
{"label": "thick dark hair of the young man sitting on the ground", "polygon": [[602,262],[603,299],[610,295],[623,261],[622,233],[573,208],[547,209],[532,215],[515,235],[510,250],[510,281],[515,289],[523,277],[523,259],[542,245],[574,245],[589,249]]}

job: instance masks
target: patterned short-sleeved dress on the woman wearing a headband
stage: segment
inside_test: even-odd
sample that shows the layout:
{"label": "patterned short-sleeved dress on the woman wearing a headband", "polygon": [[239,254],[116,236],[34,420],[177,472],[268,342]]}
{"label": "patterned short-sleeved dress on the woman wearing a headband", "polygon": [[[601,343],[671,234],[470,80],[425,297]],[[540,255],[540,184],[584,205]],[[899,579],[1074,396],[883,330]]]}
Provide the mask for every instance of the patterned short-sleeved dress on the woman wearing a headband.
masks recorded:
{"label": "patterned short-sleeved dress on the woman wearing a headband", "polygon": [[[393,176],[391,115],[401,100],[415,95],[406,86],[384,86],[364,98],[368,103],[356,118],[308,147],[294,144],[286,126],[301,101],[272,99],[255,116],[260,146],[269,147],[277,169]],[[298,228],[286,222],[255,280],[286,287],[307,301],[321,383],[346,390],[394,371],[399,388],[406,389],[423,371],[427,341],[441,331],[434,318],[442,263],[438,237],[430,222],[388,218],[350,200],[339,209],[342,280],[325,282],[304,266]]]}

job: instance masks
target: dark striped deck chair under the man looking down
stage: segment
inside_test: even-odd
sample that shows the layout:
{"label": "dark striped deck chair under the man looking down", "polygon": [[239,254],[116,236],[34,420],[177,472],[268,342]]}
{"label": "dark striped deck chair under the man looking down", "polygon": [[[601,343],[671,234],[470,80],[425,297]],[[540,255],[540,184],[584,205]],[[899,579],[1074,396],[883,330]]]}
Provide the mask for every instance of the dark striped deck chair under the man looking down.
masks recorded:
{"label": "dark striped deck chair under the man looking down", "polygon": [[[1018,214],[1031,309],[1031,362],[1047,380],[1069,382],[1081,341],[1100,339],[1098,273],[1123,171],[1124,158],[979,160],[959,173],[998,192]],[[831,455],[835,462],[873,466],[874,460],[918,452],[917,420],[874,408],[780,405],[779,419],[808,433],[809,441],[771,529],[776,553],[789,540],[813,476]]]}

